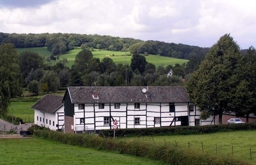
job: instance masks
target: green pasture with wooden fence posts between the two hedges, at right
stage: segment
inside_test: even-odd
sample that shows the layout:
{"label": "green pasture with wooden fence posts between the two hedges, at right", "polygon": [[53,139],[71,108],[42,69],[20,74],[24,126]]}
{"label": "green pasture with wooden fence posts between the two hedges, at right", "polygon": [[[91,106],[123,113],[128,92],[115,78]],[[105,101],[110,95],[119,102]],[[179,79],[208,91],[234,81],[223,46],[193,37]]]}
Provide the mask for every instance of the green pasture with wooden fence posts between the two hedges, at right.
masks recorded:
{"label": "green pasture with wooden fence posts between the two hedges, at right", "polygon": [[[202,134],[202,135],[173,135],[173,136],[153,136],[156,144],[163,144],[164,139],[166,143],[178,146],[190,147],[202,152],[202,144],[204,153],[216,155],[216,144],[217,154],[232,156],[232,145],[233,145],[233,157],[242,159],[256,164],[256,130],[253,131],[234,131],[234,132],[219,132],[213,134]],[[126,138],[126,140],[141,140],[150,141],[152,143],[152,136],[144,137],[133,137]],[[252,150],[252,160],[250,160],[250,147]]]}

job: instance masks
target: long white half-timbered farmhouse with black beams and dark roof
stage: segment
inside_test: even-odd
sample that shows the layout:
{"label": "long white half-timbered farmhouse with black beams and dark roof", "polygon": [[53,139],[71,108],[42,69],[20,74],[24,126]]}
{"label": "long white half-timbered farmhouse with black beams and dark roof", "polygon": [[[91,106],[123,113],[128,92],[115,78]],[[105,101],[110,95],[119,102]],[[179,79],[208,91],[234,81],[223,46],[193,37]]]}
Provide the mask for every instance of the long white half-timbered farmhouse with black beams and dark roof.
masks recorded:
{"label": "long white half-timbered farmhouse with black beams and dark roof", "polygon": [[180,86],[70,86],[63,102],[65,132],[112,129],[114,120],[121,129],[215,124]]}

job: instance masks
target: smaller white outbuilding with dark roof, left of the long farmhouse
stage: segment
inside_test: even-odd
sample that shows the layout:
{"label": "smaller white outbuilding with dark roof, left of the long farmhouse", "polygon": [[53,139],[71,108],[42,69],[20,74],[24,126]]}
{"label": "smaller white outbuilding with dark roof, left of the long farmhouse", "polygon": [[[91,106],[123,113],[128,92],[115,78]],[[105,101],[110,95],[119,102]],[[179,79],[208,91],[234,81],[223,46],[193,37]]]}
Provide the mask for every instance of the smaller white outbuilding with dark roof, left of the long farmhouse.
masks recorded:
{"label": "smaller white outbuilding with dark roof, left of the long farmhouse", "polygon": [[34,109],[34,124],[51,130],[64,128],[64,106],[62,96],[45,95],[31,106]]}

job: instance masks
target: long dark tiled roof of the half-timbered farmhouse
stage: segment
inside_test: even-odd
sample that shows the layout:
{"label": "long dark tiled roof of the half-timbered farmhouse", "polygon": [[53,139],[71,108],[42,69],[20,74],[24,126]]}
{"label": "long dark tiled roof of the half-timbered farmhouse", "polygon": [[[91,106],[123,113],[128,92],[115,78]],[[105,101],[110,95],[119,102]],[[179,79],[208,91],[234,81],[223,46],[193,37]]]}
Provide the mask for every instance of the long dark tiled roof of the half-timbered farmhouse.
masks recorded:
{"label": "long dark tiled roof of the half-timbered farmhouse", "polygon": [[[172,103],[189,102],[186,89],[182,86],[148,86],[150,97],[142,92],[144,86],[70,86],[67,88],[74,103]],[[92,92],[98,91],[93,99]],[[148,93],[148,94],[149,94]]]}

